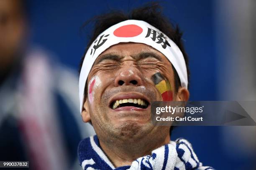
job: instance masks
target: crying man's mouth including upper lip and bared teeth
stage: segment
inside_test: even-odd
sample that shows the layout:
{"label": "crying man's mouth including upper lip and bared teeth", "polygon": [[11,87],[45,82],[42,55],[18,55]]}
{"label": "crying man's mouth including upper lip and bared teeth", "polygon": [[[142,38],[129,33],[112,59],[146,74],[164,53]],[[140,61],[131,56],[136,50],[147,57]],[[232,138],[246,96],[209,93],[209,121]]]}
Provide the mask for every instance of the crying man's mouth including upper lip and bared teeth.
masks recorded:
{"label": "crying man's mouth including upper lip and bared teeth", "polygon": [[113,97],[110,102],[110,108],[115,110],[121,107],[137,107],[146,109],[149,105],[148,99],[138,94],[122,94]]}

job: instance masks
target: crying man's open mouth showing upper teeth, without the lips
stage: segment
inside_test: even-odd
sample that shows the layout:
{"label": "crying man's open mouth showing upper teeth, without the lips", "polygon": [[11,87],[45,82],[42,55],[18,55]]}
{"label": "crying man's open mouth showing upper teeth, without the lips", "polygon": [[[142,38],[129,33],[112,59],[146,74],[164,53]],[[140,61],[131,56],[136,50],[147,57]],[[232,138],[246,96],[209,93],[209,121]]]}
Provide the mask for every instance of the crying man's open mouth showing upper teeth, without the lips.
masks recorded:
{"label": "crying man's open mouth showing upper teeth, without the lips", "polygon": [[133,106],[133,107],[146,109],[148,107],[148,101],[143,99],[122,99],[122,100],[115,100],[110,105],[112,109],[125,107],[125,106]]}

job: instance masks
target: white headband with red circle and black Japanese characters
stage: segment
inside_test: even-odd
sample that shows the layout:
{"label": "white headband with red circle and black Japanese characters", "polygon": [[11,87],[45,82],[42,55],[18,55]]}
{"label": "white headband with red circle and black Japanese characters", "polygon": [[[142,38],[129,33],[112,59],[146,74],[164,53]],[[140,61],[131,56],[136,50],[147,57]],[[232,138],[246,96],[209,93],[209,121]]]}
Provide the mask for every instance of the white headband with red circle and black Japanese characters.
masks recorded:
{"label": "white headband with red circle and black Japanese characters", "polygon": [[120,42],[137,42],[149,45],[172,63],[182,87],[187,88],[187,67],[179,47],[163,32],[141,20],[126,20],[102,32],[87,50],[79,76],[80,111],[84,102],[84,87],[96,58],[108,47]]}

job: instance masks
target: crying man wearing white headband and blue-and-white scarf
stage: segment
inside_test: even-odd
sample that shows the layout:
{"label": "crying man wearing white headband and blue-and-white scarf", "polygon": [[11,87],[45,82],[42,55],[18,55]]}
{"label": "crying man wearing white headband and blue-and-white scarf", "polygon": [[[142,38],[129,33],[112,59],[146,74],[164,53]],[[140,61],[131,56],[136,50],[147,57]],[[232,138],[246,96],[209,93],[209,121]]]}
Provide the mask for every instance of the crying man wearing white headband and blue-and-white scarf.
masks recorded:
{"label": "crying man wearing white headband and blue-and-white scarf", "polygon": [[157,4],[96,18],[79,77],[82,119],[97,134],[79,144],[83,169],[213,169],[187,140],[170,141],[171,126],[151,123],[152,101],[189,98],[181,36]]}

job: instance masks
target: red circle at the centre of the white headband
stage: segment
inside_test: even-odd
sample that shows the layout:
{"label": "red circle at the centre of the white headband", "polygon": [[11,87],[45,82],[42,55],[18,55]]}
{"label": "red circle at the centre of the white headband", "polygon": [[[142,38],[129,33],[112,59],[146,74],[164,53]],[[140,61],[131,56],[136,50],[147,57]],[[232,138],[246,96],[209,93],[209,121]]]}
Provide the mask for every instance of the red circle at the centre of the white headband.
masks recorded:
{"label": "red circle at the centre of the white headband", "polygon": [[114,31],[114,35],[117,37],[135,37],[140,35],[142,31],[142,28],[138,25],[123,25]]}

